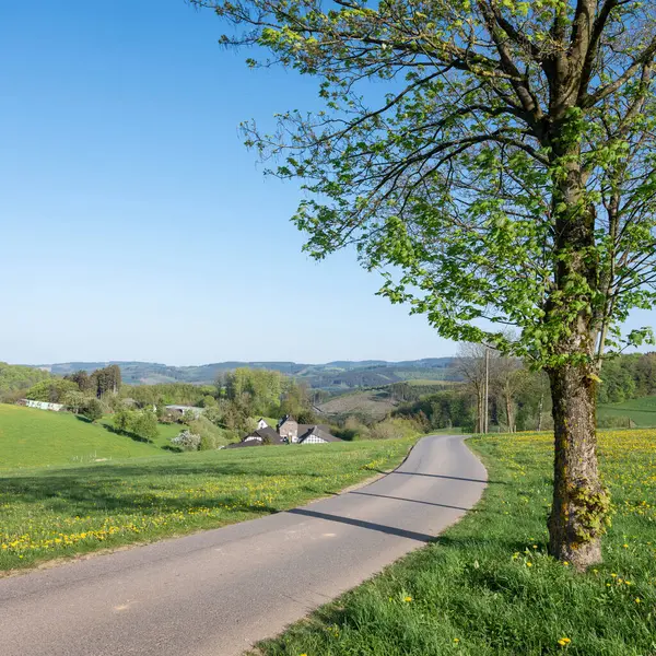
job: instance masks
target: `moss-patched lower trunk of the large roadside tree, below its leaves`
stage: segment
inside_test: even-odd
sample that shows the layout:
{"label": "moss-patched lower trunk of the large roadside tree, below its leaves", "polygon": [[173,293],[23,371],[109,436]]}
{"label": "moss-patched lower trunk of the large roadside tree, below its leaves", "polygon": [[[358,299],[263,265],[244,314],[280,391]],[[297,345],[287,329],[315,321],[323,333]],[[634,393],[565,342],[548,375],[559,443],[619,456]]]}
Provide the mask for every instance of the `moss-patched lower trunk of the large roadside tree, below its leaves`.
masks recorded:
{"label": "moss-patched lower trunk of the large roadside tree, below its leaves", "polygon": [[588,365],[549,372],[555,437],[549,551],[581,571],[601,561],[600,538],[609,506],[597,466],[593,376]]}

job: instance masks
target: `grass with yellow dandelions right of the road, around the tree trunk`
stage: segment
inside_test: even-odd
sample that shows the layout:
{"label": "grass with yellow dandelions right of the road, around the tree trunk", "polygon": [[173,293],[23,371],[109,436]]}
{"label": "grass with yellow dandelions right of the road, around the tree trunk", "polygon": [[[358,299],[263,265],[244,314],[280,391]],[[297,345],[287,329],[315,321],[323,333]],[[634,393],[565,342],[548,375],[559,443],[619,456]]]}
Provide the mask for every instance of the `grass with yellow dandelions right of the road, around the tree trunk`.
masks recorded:
{"label": "grass with yellow dandelions right of the road, around the tree trunk", "polygon": [[491,481],[477,509],[261,653],[653,656],[656,432],[608,432],[600,442],[617,509],[604,565],[577,575],[546,554],[549,436],[472,440]]}

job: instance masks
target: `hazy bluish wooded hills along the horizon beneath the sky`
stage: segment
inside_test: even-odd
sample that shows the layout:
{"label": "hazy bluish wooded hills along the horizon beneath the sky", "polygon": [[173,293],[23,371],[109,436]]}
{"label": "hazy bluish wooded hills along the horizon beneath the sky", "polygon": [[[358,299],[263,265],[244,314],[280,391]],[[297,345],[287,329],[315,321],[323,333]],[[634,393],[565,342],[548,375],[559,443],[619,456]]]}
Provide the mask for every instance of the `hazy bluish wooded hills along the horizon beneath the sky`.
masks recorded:
{"label": "hazy bluish wooded hills along the horizon beneath the sky", "polygon": [[117,364],[124,382],[128,385],[154,385],[157,383],[211,384],[222,373],[237,367],[268,368],[294,376],[314,388],[351,389],[376,387],[401,380],[454,380],[458,379],[453,368],[453,358],[425,358],[402,362],[365,360],[359,362],[335,361],[326,364],[302,364],[296,362],[216,362],[198,366],[169,366],[155,362],[63,362],[35,365],[58,376],[84,370],[92,372],[109,364]]}

